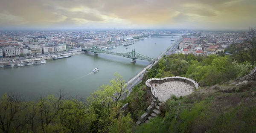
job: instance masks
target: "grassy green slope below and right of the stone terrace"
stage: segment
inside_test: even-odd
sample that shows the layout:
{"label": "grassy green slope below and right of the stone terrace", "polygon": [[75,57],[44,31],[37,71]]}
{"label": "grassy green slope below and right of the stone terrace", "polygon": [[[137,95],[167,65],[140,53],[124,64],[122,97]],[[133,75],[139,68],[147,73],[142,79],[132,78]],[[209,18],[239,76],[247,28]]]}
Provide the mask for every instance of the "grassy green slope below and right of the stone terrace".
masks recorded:
{"label": "grassy green slope below and right of the stone terrace", "polygon": [[161,117],[137,133],[255,133],[256,81],[202,87],[160,106]]}

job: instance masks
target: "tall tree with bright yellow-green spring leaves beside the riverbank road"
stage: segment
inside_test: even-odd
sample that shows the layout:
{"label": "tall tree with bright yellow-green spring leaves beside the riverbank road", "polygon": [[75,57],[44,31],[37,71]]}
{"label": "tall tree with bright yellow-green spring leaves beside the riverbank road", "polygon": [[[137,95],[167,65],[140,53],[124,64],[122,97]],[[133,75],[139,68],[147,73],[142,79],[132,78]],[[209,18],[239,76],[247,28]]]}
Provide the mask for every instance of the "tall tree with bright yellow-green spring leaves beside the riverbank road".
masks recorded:
{"label": "tall tree with bright yellow-green spring leaves beside the riverbank road", "polygon": [[111,84],[102,85],[99,90],[87,98],[88,104],[96,110],[98,115],[95,128],[99,132],[108,132],[114,119],[119,118],[118,112],[121,108],[119,100],[128,92],[122,76],[117,72],[114,75],[116,79],[111,80]]}

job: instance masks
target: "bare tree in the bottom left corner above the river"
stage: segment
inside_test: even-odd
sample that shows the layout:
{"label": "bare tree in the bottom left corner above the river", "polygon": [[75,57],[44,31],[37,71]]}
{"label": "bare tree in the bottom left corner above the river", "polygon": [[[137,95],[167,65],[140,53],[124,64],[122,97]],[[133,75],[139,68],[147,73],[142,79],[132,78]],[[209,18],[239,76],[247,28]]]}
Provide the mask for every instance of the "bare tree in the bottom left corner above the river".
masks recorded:
{"label": "bare tree in the bottom left corner above the river", "polygon": [[[15,132],[35,117],[34,104],[26,102],[22,95],[9,92],[0,99],[0,130],[4,133]],[[31,112],[32,111],[32,112]]]}

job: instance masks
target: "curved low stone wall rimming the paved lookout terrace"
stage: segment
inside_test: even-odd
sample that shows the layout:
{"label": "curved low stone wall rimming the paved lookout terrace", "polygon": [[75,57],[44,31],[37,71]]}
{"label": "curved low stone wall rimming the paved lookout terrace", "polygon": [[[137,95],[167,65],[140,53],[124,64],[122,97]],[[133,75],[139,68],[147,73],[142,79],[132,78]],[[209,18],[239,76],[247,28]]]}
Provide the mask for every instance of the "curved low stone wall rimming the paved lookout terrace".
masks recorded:
{"label": "curved low stone wall rimming the paved lookout terrace", "polygon": [[190,79],[190,78],[185,78],[185,77],[179,77],[179,76],[175,76],[175,77],[166,77],[166,78],[150,78],[148,79],[145,84],[148,90],[151,90],[151,93],[153,95],[153,97],[155,99],[158,99],[156,96],[156,89],[154,86],[152,86],[151,84],[163,84],[165,82],[171,82],[171,81],[179,81],[179,82],[184,82],[186,84],[191,85],[192,87],[194,87],[195,89],[198,89],[199,85],[197,82],[195,82],[194,80]]}

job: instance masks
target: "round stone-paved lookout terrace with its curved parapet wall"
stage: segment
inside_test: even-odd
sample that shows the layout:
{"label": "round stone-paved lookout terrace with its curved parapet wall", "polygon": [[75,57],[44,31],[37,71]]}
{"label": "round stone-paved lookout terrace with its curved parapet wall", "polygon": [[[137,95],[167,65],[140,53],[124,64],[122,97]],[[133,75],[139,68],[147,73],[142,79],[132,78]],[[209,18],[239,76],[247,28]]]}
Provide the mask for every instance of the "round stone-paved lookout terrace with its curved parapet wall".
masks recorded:
{"label": "round stone-paved lookout terrace with its curved parapet wall", "polygon": [[198,89],[198,83],[185,77],[151,78],[145,82],[155,99],[166,102],[171,95],[189,95]]}

